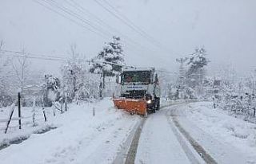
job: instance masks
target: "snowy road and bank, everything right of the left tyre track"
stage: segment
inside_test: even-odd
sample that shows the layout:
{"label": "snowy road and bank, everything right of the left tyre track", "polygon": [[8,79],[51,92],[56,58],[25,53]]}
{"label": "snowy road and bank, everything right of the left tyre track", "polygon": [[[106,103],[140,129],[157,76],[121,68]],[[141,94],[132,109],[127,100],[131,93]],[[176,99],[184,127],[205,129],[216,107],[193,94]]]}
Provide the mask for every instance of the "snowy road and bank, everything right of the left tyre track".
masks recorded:
{"label": "snowy road and bank, everything right of the left tyre track", "polygon": [[256,125],[211,103],[163,107],[146,119],[135,163],[170,162],[256,163]]}

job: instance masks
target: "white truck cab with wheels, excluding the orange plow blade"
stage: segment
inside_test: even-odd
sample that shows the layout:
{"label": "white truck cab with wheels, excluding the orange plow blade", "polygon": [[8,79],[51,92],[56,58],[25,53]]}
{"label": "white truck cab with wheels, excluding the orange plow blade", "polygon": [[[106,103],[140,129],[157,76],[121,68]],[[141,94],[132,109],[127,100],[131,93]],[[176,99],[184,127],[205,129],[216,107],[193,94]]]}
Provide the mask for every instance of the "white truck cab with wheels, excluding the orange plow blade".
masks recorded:
{"label": "white truck cab with wheels, excluding the orange plow blade", "polygon": [[146,100],[148,111],[159,109],[160,86],[154,68],[123,68],[117,83],[121,85],[121,98]]}

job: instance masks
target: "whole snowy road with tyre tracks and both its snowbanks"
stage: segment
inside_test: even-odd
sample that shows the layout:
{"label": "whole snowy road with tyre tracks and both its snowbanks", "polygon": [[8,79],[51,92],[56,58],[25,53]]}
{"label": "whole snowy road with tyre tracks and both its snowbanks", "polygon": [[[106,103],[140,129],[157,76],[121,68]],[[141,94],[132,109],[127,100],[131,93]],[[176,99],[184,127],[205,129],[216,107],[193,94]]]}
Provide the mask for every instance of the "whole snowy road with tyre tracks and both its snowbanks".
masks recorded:
{"label": "whole snowy road with tyre tracks and both its snowbanks", "polygon": [[256,126],[209,103],[166,103],[142,118],[103,100],[70,108],[52,126],[0,150],[1,163],[256,163]]}

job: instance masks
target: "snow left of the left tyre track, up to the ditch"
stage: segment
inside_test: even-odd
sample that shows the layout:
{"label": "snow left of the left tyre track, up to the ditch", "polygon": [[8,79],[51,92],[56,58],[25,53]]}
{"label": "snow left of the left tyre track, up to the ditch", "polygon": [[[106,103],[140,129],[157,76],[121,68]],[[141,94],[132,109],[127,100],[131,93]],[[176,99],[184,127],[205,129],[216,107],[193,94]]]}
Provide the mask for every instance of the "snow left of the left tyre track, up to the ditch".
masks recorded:
{"label": "snow left of the left tyre track, up to the ditch", "polygon": [[140,119],[110,99],[73,105],[51,121],[56,129],[0,150],[1,163],[111,163]]}

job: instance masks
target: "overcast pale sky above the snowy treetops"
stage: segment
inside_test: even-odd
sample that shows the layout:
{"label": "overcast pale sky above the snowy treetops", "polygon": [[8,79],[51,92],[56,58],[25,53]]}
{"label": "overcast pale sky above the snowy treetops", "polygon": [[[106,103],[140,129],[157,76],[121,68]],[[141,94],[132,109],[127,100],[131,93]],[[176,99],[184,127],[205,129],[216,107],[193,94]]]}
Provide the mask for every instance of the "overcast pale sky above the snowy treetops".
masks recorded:
{"label": "overcast pale sky above the snowy treetops", "polygon": [[[55,1],[76,11],[63,0]],[[192,53],[195,47],[204,46],[209,53],[210,68],[230,63],[238,72],[256,68],[254,0],[107,0],[135,25],[161,42],[164,47],[161,49],[107,13],[94,0],[74,1],[118,29],[123,41],[130,42],[123,36],[126,35],[140,44],[131,46],[124,42],[127,64],[171,71],[177,68],[176,58]],[[85,13],[78,14],[98,28],[109,30]],[[33,0],[0,0],[0,40],[5,42],[5,49],[20,50],[24,47],[29,53],[58,56],[66,54],[70,44],[75,43],[78,52],[90,59],[97,55],[105,41],[110,40],[110,35],[99,37]],[[46,72],[50,69],[58,72],[60,65],[50,61],[31,62]]]}

